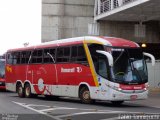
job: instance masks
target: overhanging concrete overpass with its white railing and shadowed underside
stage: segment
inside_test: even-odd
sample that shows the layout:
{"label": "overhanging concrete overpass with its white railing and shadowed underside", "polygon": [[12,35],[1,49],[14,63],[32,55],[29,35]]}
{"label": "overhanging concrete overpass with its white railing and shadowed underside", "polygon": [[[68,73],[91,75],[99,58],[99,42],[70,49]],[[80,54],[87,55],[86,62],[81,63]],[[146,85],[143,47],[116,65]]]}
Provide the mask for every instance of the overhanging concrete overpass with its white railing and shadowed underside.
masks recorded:
{"label": "overhanging concrete overpass with its white railing and shadowed underside", "polygon": [[160,21],[160,0],[96,0],[95,20]]}

